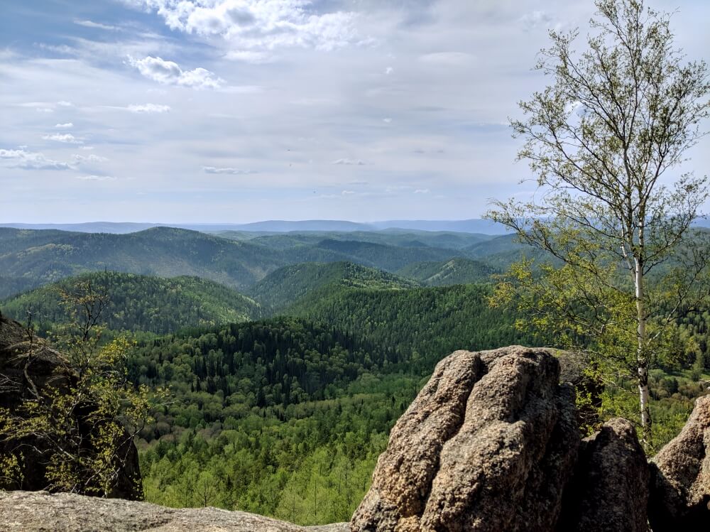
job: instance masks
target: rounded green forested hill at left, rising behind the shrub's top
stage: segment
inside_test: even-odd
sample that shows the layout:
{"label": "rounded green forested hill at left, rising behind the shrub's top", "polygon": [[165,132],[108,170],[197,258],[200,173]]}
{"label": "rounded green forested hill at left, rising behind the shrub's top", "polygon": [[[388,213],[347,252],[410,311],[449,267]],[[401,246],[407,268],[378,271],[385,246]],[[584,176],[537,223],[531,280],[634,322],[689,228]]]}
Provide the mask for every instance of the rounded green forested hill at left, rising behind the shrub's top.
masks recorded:
{"label": "rounded green forested hill at left, rising behind the shrub's top", "polygon": [[72,291],[77,282],[92,283],[109,294],[102,319],[111,330],[165,334],[182,327],[244,322],[261,316],[259,305],[231,288],[197,277],[160,278],[133,273],[98,272],[65,278],[0,303],[3,313],[26,321],[31,310],[38,330],[50,330],[67,321],[60,291]]}

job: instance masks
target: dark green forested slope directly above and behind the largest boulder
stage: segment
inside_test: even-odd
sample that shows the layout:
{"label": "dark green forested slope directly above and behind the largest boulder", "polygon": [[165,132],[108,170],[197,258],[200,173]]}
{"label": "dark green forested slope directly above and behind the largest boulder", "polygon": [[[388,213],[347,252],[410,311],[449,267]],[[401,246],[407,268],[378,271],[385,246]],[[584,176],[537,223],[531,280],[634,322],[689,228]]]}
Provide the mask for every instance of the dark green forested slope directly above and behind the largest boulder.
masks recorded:
{"label": "dark green forested slope directly above and behind the largest boulder", "polygon": [[543,339],[515,329],[515,314],[491,308],[487,285],[456,285],[373,291],[342,288],[289,308],[291,315],[323,322],[372,342],[392,361],[431,371],[455,349],[542,345]]}

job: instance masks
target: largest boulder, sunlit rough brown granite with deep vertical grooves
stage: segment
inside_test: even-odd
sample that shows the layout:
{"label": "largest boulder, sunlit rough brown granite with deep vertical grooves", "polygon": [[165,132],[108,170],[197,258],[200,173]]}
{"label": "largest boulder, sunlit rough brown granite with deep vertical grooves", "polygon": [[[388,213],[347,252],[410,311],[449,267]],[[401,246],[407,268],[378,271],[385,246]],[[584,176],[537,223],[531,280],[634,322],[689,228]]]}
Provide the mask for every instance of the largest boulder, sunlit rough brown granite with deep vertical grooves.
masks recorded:
{"label": "largest boulder, sunlit rough brown granite with deep vertical grooves", "polygon": [[351,530],[551,531],[576,414],[550,350],[454,352],[393,428]]}

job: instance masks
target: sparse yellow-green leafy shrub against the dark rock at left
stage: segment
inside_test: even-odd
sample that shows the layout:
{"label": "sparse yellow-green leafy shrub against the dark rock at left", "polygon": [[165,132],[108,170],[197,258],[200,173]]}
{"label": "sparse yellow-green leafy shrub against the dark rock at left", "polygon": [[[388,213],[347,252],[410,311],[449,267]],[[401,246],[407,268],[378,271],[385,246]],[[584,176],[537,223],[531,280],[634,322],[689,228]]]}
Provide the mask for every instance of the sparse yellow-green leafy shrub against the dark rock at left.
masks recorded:
{"label": "sparse yellow-green leafy shrub against the dark rock at left", "polygon": [[[151,419],[151,401],[145,386],[133,389],[126,381],[129,341],[101,342],[106,304],[107,294],[89,281],[62,293],[70,323],[57,340],[67,360],[60,359],[42,383],[31,376],[31,366],[48,356],[48,348],[28,331],[25,352],[18,355],[24,380],[5,383],[27,395],[18,408],[0,408],[0,440],[13,449],[3,458],[5,477],[21,474],[24,460],[40,460],[45,489],[99,496],[114,491],[133,437]],[[151,393],[153,399],[160,396],[160,390]],[[22,485],[21,477],[11,482]]]}

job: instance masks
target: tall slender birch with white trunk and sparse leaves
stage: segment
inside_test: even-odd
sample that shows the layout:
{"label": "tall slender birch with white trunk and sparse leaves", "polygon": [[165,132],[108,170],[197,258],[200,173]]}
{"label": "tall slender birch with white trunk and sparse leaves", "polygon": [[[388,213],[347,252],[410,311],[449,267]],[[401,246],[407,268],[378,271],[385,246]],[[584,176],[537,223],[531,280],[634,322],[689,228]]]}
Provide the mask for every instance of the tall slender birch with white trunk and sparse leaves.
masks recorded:
{"label": "tall slender birch with white trunk and sparse leaves", "polygon": [[704,234],[693,224],[708,180],[679,170],[704,136],[708,69],[674,48],[667,13],[643,0],[596,8],[584,51],[579,31],[550,32],[535,68],[552,83],[511,121],[534,199],[488,213],[554,260],[539,275],[515,265],[493,299],[515,297],[533,325],[633,369],[650,438],[648,369],[667,327],[704,297]]}

